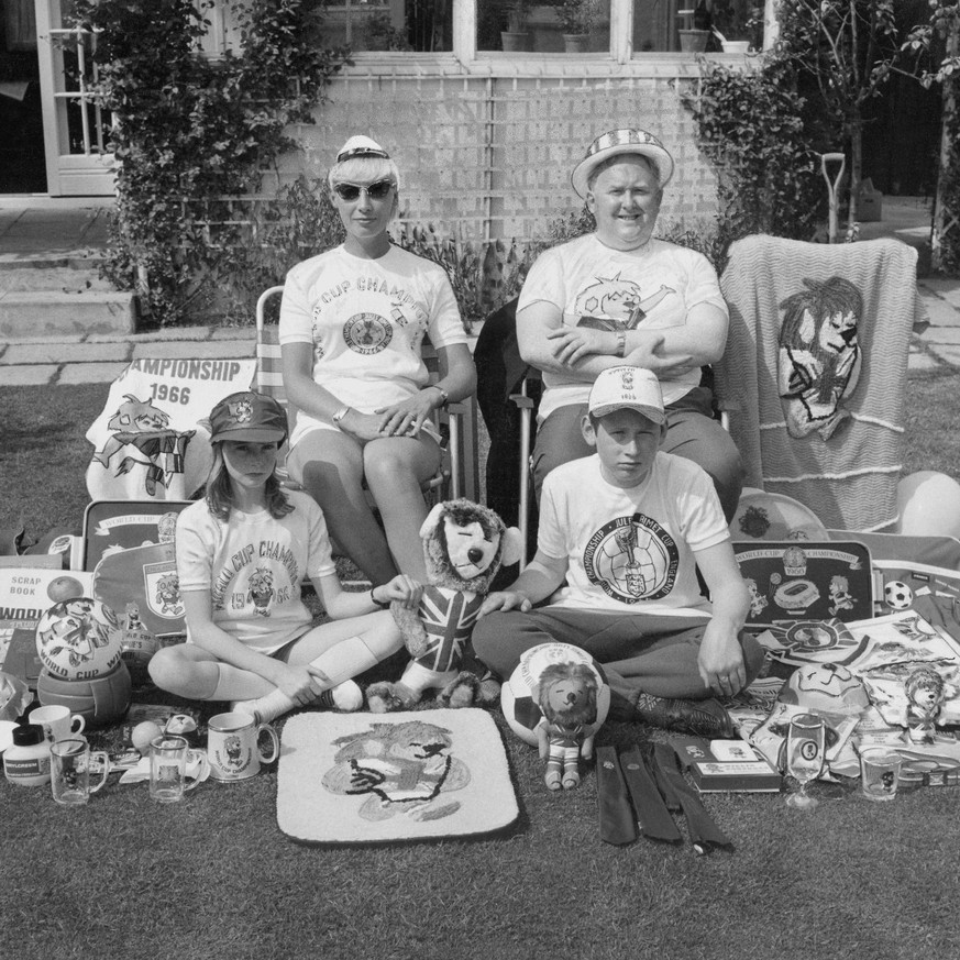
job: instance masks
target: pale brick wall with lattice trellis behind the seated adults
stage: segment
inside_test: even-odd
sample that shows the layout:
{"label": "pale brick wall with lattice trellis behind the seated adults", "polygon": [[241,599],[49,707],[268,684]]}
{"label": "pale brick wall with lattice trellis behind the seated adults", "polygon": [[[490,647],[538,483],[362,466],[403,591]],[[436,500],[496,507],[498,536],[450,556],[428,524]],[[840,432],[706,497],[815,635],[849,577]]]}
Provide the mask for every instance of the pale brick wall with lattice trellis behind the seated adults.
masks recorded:
{"label": "pale brick wall with lattice trellis behind the seated adults", "polygon": [[317,125],[299,129],[304,153],[285,175],[322,176],[347,136],[368,133],[400,167],[402,219],[448,234],[542,238],[550,220],[578,209],[570,172],[615,126],[658,133],[676,159],[662,223],[695,227],[716,209],[714,174],[667,77],[345,77],[330,96]]}

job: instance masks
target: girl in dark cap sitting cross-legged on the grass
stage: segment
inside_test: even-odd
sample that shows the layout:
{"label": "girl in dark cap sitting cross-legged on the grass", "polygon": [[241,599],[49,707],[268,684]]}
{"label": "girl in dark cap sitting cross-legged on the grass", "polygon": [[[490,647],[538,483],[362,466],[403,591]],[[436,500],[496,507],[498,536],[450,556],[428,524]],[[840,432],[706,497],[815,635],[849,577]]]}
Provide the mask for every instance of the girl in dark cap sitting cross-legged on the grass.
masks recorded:
{"label": "girl in dark cap sitting cross-legged on the grass", "polygon": [[[221,400],[210,415],[213,467],[206,499],[177,521],[177,572],[188,640],[150,664],[157,686],[190,699],[231,700],[265,722],[317,703],[355,710],[351,677],[400,649],[390,600],[416,608],[406,575],[365,593],[336,577],[323,512],[276,477],[286,413],[262,394]],[[313,626],[300,597],[309,576],[330,622]]]}

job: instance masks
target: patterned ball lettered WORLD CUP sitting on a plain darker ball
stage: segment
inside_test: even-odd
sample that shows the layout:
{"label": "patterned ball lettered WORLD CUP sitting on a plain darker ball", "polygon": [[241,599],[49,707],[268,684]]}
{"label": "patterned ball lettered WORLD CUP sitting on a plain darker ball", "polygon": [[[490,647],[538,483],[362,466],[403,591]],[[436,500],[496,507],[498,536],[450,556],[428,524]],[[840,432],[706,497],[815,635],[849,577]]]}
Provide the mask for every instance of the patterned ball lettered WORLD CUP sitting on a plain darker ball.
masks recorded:
{"label": "patterned ball lettered WORLD CUP sitting on a plain darker ball", "polygon": [[52,606],[36,625],[36,652],[53,676],[89,680],[120,662],[122,631],[110,607],[89,597]]}

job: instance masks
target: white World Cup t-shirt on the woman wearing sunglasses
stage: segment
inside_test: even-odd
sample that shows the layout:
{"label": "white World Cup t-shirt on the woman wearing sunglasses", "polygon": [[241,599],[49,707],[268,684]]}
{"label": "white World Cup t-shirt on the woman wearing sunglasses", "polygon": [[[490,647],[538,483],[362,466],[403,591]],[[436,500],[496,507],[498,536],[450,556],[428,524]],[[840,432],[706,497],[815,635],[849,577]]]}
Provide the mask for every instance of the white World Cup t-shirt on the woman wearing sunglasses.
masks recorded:
{"label": "white World Cup t-shirt on the woman wearing sunglasses", "polygon": [[[372,413],[427,385],[424,335],[438,350],[467,342],[445,271],[409,251],[365,260],[339,246],[287,274],[280,345],[311,344],[315,382],[355,410]],[[298,411],[290,444],[320,424]]]}

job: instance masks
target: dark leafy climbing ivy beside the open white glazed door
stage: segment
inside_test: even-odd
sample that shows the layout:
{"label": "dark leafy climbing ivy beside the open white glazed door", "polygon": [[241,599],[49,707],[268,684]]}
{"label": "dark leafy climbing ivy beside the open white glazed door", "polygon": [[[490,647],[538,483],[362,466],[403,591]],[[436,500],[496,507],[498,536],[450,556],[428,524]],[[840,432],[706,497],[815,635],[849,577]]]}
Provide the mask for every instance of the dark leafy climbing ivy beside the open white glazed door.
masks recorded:
{"label": "dark leafy climbing ivy beside the open white glazed door", "polygon": [[77,0],[97,32],[93,92],[112,112],[117,211],[106,272],[172,324],[213,302],[250,243],[255,194],[312,122],[349,51],[324,49],[304,0],[230,0],[236,52],[198,53],[212,0]]}

